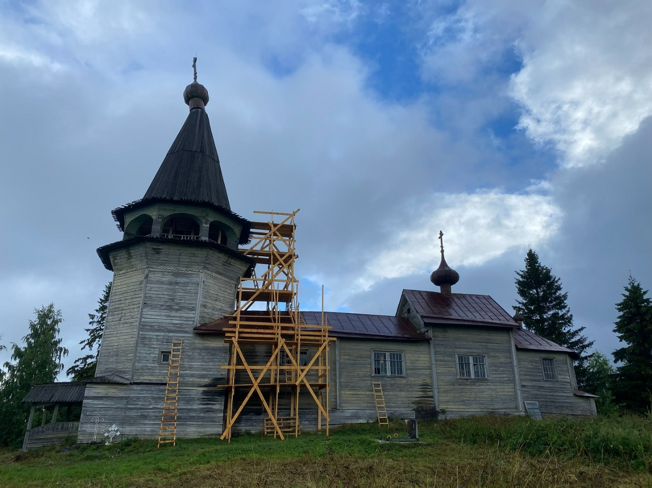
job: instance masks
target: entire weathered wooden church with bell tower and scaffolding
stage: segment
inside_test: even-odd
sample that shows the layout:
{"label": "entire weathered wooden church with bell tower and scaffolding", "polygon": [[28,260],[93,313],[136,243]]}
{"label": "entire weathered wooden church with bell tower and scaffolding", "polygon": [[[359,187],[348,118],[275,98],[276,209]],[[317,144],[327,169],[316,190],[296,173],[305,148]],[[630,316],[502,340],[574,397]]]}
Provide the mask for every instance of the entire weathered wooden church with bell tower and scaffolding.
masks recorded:
{"label": "entire weathered wooden church with bell tower and scaffolding", "polygon": [[[456,294],[445,262],[436,290],[403,290],[393,316],[299,311],[295,214],[231,210],[196,79],[190,113],[140,200],[113,210],[121,241],[95,378],[37,385],[25,444],[303,430],[387,418],[595,415],[572,350],[522,328],[488,295]],[[441,238],[441,233],[440,233]],[[82,405],[78,422],[57,410]],[[36,408],[52,422],[33,427]],[[116,434],[119,431],[119,434]]]}

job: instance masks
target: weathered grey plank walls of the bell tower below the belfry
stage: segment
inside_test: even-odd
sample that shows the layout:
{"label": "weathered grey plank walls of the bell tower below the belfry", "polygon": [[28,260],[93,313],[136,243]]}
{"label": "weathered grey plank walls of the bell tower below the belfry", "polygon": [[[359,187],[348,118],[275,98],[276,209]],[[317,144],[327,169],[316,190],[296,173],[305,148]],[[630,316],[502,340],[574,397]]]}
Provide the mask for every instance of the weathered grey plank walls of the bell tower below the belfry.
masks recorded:
{"label": "weathered grey plank walls of the bell tower below the belfry", "polygon": [[131,384],[91,384],[84,397],[80,442],[95,415],[122,437],[157,437],[167,364],[160,351],[183,339],[177,435],[220,435],[228,345],[196,335],[198,320],[233,312],[235,286],[247,265],[212,248],[139,243],[111,254],[115,275],[96,376],[117,373]]}

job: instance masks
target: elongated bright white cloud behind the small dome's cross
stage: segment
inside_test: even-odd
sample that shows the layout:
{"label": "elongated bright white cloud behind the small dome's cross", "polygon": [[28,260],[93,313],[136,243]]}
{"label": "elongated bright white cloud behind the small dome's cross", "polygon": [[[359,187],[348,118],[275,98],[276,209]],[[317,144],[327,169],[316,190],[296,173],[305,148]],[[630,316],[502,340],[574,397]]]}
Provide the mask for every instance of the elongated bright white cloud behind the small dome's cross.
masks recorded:
{"label": "elongated bright white cloud behind the small dome's cross", "polygon": [[562,217],[550,196],[497,189],[434,194],[417,215],[367,264],[356,282],[360,290],[383,279],[433,271],[439,264],[439,230],[451,266],[479,266],[512,247],[541,245],[557,232]]}

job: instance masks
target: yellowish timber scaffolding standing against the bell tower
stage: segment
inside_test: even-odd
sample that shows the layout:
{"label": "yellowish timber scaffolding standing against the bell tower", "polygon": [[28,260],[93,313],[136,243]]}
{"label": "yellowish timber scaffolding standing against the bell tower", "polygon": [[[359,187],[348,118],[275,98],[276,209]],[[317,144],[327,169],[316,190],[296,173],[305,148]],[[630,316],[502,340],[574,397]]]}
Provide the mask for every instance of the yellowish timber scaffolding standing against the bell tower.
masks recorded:
{"label": "yellowish timber scaffolding standing against the bell tower", "polygon": [[[331,339],[323,311],[321,324],[316,325],[304,324],[299,313],[299,281],[294,274],[298,211],[254,212],[267,215],[268,221],[252,222],[252,241],[241,250],[256,260],[258,273],[241,279],[237,309],[225,329],[230,362],[222,366],[228,370],[228,382],[218,386],[227,393],[222,439],[231,439],[233,425],[252,397],[258,397],[267,412],[265,434],[282,439],[299,435],[299,410],[306,410],[300,403],[306,402],[316,407],[318,430],[323,419],[329,434]],[[252,349],[257,354],[246,354]],[[279,405],[280,393],[285,399],[289,395],[289,404]]]}

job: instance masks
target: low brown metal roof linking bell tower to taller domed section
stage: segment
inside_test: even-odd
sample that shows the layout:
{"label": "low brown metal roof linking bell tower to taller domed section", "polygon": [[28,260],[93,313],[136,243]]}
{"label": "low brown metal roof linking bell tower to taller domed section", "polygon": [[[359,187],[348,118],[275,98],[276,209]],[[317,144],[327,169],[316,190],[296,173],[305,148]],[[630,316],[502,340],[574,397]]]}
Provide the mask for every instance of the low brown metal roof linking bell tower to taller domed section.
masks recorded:
{"label": "low brown metal roof linking bell tower to taller domed section", "polygon": [[[247,311],[248,316],[265,312]],[[329,335],[359,339],[391,339],[394,341],[429,341],[428,335],[420,334],[407,318],[393,315],[368,315],[344,312],[325,312],[327,325],[331,326]],[[301,312],[308,325],[321,324],[321,312]],[[224,333],[229,325],[229,317],[201,324],[194,328],[195,333]],[[251,327],[251,326],[249,326]]]}

